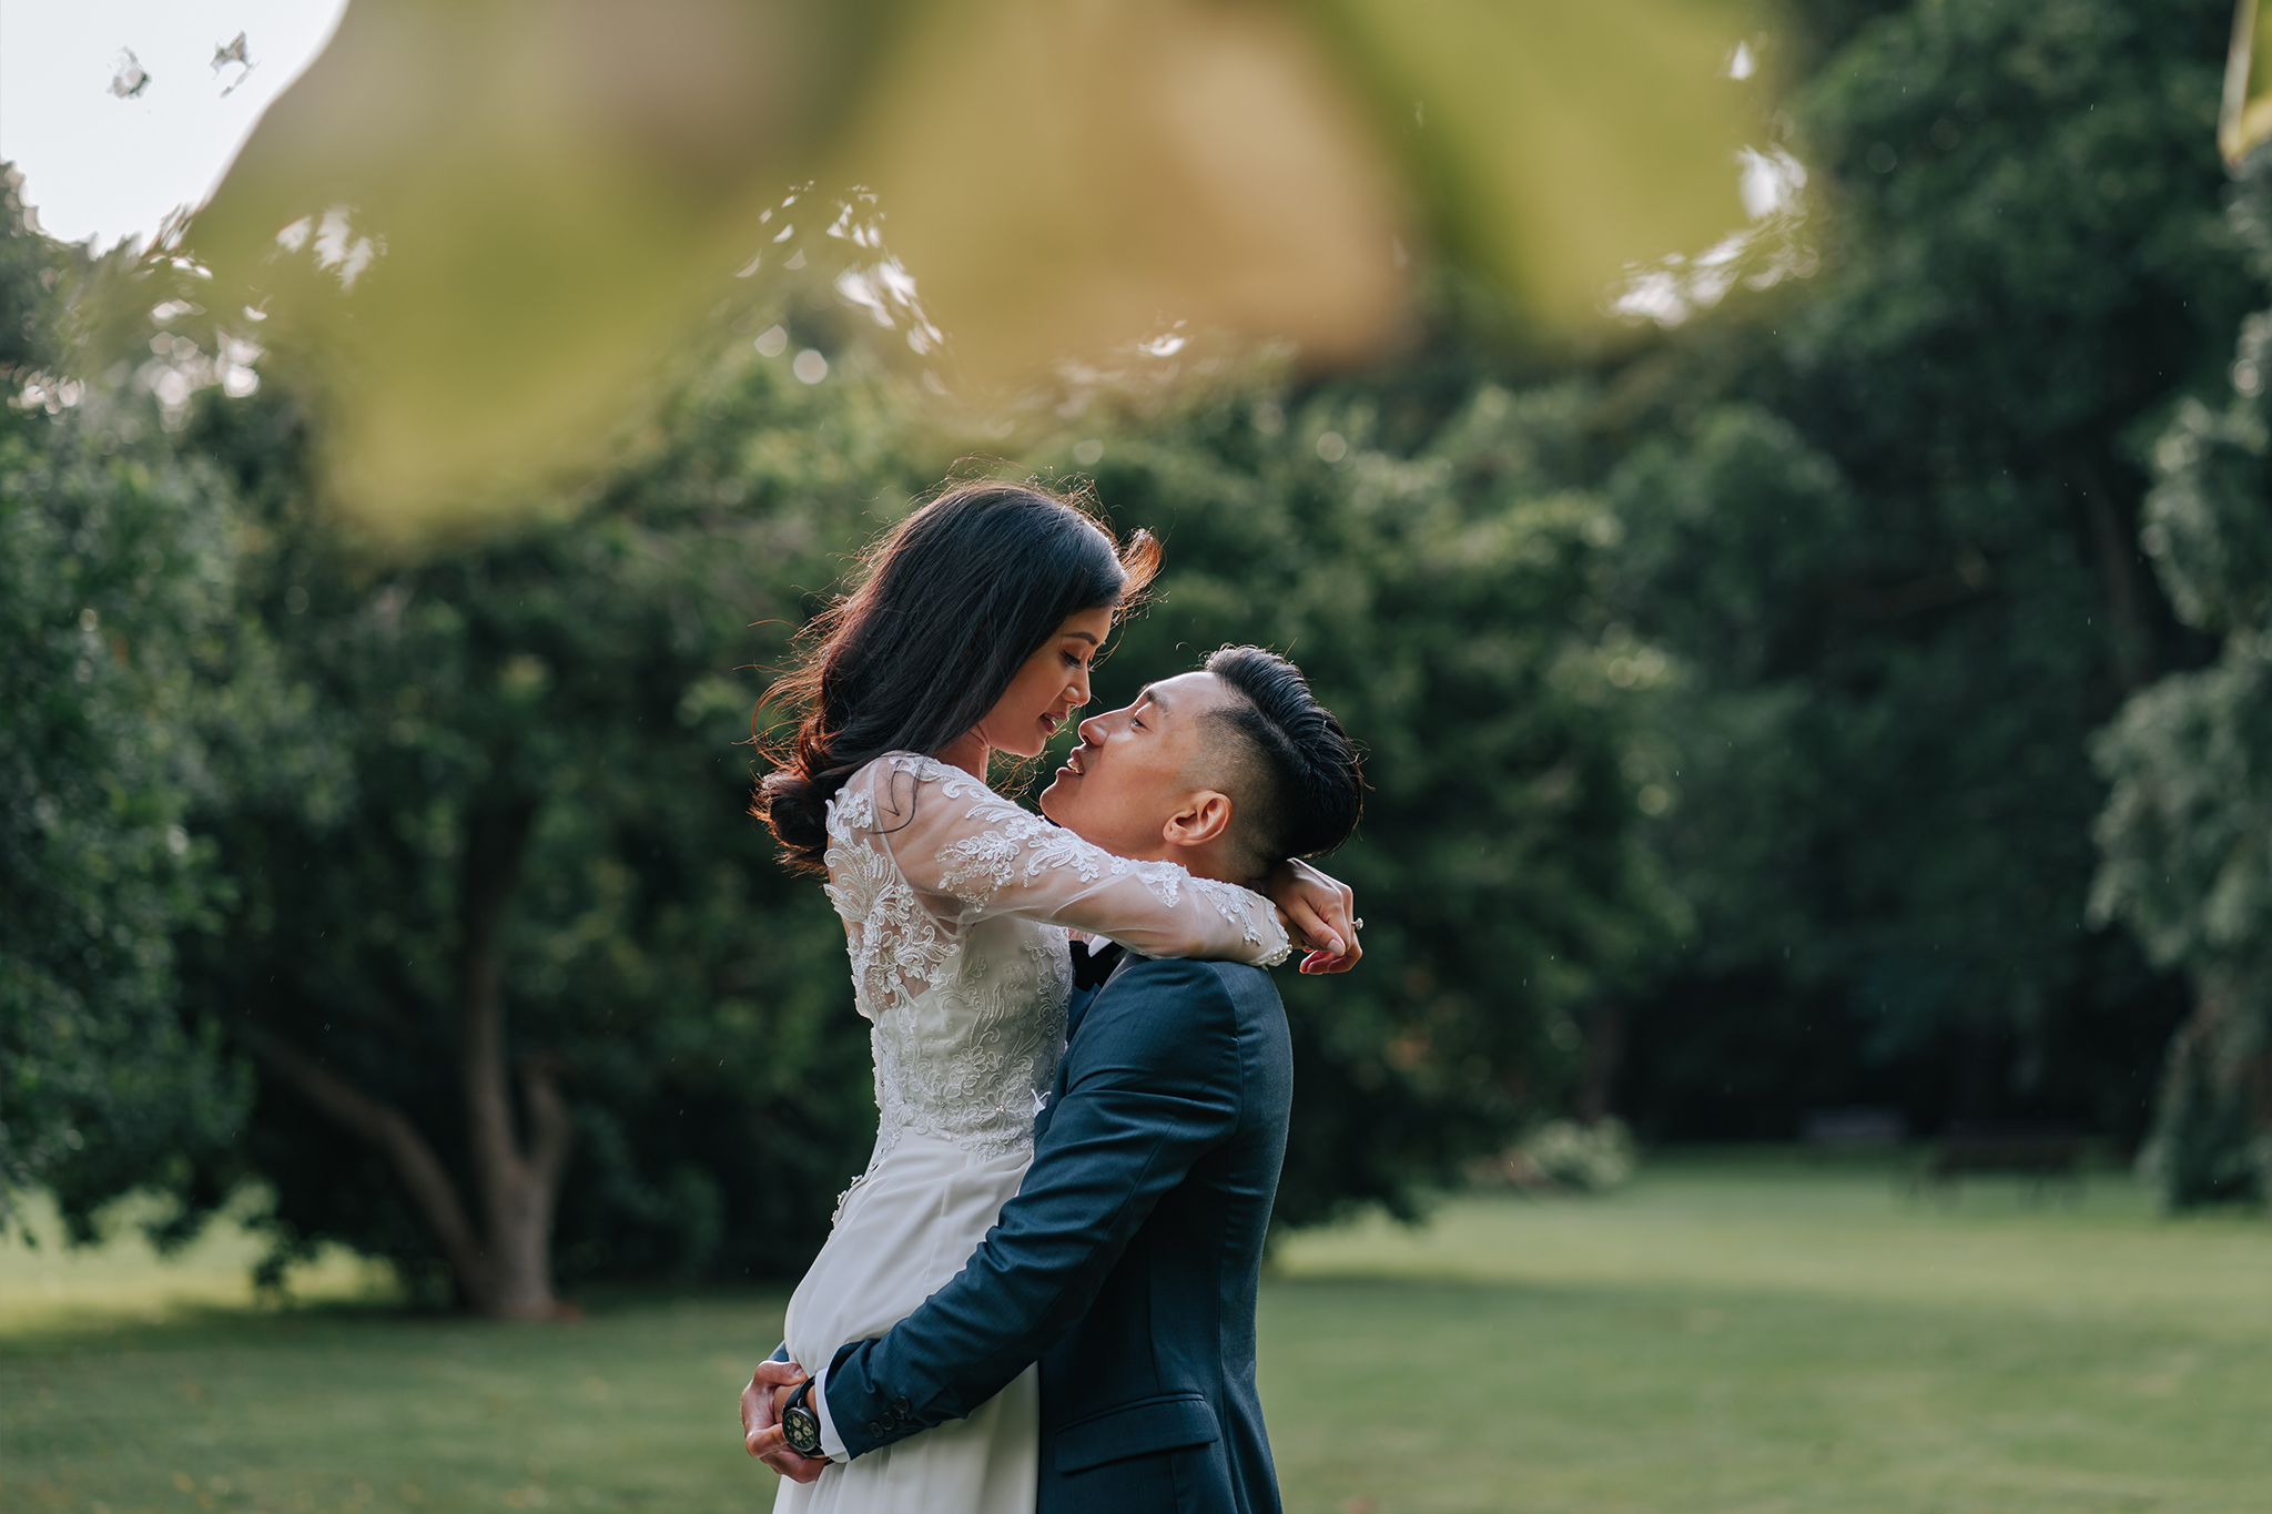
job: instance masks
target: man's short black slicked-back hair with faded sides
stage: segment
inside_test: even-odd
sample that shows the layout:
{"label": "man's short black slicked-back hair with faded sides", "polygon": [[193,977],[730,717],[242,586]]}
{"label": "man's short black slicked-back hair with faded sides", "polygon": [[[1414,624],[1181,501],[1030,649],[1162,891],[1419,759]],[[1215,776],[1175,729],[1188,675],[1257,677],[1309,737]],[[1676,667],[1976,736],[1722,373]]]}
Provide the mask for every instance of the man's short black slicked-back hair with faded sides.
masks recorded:
{"label": "man's short black slicked-back hair with faded sides", "polygon": [[1365,810],[1365,776],[1334,713],[1302,670],[1261,647],[1225,647],[1206,672],[1236,695],[1206,713],[1216,785],[1231,794],[1231,847],[1259,876],[1331,851]]}

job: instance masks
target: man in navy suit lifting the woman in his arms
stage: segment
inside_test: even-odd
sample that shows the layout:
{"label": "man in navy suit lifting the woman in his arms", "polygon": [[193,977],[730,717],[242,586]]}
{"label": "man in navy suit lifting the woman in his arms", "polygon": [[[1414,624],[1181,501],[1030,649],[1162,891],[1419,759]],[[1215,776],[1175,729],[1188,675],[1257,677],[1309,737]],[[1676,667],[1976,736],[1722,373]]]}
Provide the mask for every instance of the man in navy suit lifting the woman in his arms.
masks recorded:
{"label": "man in navy suit lifting the woman in his arms", "polygon": [[[1097,847],[1229,883],[1338,847],[1359,808],[1340,724],[1259,647],[1225,647],[1084,720],[1041,797]],[[1236,962],[1104,944],[1075,947],[1075,974],[1034,1164],[977,1255],[797,1394],[795,1364],[752,1378],[745,1441],[784,1475],[807,1482],[827,1460],[961,1419],[1038,1360],[1038,1514],[1279,1507],[1254,1289],[1286,1155],[1286,1012],[1270,974]]]}

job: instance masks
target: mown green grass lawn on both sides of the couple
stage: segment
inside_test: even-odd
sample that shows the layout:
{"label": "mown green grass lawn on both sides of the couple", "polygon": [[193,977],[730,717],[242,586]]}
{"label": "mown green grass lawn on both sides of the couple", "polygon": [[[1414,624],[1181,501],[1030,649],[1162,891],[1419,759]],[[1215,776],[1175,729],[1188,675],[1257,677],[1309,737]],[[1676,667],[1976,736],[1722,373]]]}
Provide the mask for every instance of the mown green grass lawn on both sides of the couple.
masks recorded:
{"label": "mown green grass lawn on both sides of the couple", "polygon": [[[241,1246],[0,1251],[0,1514],[770,1503],[734,1394],[779,1296],[482,1326],[348,1303],[334,1260],[300,1280],[329,1303],[261,1312]],[[2272,1226],[2122,1178],[1938,1205],[1659,1158],[1599,1201],[1300,1237],[1261,1339],[1300,1512],[2272,1509]]]}

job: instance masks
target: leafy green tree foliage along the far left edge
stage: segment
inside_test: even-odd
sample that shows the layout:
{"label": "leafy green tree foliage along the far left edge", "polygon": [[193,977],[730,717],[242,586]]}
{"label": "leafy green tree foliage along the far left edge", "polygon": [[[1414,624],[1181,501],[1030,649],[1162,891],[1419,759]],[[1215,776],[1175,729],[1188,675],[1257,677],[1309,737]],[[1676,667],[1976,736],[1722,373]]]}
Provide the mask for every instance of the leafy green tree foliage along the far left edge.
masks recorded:
{"label": "leafy green tree foliage along the far left edge", "polygon": [[[73,252],[0,204],[0,1219],[179,1178],[243,1119],[216,1026],[175,1012],[175,933],[216,899],[214,647],[234,615],[225,488],[116,386],[66,384]],[[18,393],[20,390],[20,393]]]}

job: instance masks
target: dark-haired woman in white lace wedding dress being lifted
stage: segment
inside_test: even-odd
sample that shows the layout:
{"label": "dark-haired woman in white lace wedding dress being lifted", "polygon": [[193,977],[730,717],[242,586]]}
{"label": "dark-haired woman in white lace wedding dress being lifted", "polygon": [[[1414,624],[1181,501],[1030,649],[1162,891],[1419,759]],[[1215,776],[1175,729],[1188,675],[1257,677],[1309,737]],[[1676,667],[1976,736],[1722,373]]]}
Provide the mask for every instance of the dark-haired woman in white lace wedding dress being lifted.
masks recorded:
{"label": "dark-haired woman in white lace wedding dress being lifted", "polygon": [[[868,1171],[788,1301],[786,1351],[807,1369],[911,1314],[1018,1192],[1063,1051],[1070,931],[1272,965],[1290,922],[1313,947],[1304,972],[1354,962],[1345,897],[1322,874],[1281,867],[1272,908],[1175,863],[1116,858],[986,785],[991,754],[1038,756],[1088,704],[1091,663],[1156,565],[1150,533],[1116,549],[1041,488],[959,486],[870,549],[768,695],[802,720],[768,754],[754,813],[791,867],[827,876],[879,1110]],[[784,1480],[775,1514],[1022,1514],[1036,1457],[1029,1366],[968,1419]]]}

